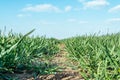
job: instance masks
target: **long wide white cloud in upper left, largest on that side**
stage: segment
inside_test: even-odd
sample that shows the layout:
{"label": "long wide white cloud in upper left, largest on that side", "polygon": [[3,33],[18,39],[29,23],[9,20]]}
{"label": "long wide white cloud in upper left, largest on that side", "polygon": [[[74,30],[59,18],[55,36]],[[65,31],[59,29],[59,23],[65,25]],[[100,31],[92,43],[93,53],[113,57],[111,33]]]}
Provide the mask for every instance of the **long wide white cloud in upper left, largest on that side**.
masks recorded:
{"label": "long wide white cloud in upper left, largest on that side", "polygon": [[52,4],[39,4],[35,6],[27,6],[22,9],[23,11],[34,11],[34,12],[60,12],[60,9]]}

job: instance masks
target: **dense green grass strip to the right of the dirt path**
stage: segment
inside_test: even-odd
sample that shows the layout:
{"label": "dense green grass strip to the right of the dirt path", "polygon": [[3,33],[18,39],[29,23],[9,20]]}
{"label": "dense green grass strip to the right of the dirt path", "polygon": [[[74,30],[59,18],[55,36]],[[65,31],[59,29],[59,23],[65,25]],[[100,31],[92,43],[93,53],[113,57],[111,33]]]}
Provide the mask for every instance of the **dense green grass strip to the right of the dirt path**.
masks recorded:
{"label": "dense green grass strip to the right of the dirt path", "polygon": [[63,41],[86,80],[120,79],[120,33],[77,36]]}

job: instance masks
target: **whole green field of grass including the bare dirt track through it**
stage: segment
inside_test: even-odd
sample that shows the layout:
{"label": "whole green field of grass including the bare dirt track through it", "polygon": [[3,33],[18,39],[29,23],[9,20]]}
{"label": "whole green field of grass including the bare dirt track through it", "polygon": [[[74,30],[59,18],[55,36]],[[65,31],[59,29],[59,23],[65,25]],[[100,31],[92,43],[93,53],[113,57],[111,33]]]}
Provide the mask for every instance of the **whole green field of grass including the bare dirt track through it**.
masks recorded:
{"label": "whole green field of grass including the bare dirt track through it", "polygon": [[120,79],[120,33],[57,40],[33,31],[0,33],[0,80]]}

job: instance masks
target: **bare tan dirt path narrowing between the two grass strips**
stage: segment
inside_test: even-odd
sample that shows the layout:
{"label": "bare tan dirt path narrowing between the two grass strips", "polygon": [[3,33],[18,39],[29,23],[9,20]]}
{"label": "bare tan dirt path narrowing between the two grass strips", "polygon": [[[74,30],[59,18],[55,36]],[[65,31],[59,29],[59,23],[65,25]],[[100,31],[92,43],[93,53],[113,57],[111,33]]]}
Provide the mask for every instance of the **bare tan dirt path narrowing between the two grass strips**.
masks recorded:
{"label": "bare tan dirt path narrowing between the two grass strips", "polygon": [[56,54],[52,62],[61,67],[62,72],[58,72],[54,75],[41,76],[41,80],[84,80],[79,74],[78,70],[74,70],[70,67],[73,65],[67,58],[67,52],[65,51],[65,45],[60,44],[60,53]]}

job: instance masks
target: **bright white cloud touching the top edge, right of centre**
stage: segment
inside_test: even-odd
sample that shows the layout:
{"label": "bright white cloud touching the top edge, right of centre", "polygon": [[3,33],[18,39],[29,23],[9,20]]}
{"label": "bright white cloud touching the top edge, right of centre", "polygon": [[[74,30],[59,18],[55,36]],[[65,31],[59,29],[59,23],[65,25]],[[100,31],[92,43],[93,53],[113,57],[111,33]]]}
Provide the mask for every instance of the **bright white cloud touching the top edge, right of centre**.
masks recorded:
{"label": "bright white cloud touching the top edge, right of centre", "polygon": [[109,2],[107,2],[107,0],[92,0],[88,2],[83,1],[83,5],[84,5],[84,9],[100,8],[109,5]]}

